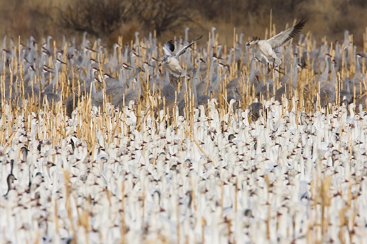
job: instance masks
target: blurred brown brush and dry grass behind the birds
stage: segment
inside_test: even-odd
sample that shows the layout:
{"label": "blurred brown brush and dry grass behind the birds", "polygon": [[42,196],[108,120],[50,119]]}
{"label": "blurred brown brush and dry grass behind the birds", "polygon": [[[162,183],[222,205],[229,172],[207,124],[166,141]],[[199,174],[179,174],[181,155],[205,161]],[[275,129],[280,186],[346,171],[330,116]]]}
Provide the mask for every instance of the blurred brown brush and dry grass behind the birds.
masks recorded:
{"label": "blurred brown brush and dry grass behind the birds", "polygon": [[[0,37],[5,34],[24,42],[30,35],[36,40],[51,35],[61,44],[62,35],[81,38],[100,37],[105,45],[141,37],[156,30],[160,41],[183,36],[190,26],[190,38],[206,34],[214,25],[218,41],[233,43],[233,28],[243,32],[245,40],[265,37],[272,10],[276,31],[306,17],[304,33],[310,31],[318,41],[342,40],[345,29],[362,46],[367,26],[365,0],[15,0],[0,1]],[[205,39],[203,39],[205,40]]]}

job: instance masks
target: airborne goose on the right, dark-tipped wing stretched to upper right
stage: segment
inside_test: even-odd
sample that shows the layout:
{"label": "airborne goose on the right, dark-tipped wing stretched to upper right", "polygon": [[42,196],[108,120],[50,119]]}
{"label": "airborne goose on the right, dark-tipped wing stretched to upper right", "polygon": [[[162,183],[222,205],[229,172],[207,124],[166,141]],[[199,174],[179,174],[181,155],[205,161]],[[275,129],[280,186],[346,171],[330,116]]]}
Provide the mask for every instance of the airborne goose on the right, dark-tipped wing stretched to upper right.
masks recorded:
{"label": "airborne goose on the right, dark-tipped wing stretched to upper right", "polygon": [[256,38],[255,40],[249,41],[246,46],[255,45],[257,51],[261,54],[262,57],[268,63],[268,74],[270,73],[269,68],[269,60],[273,62],[273,66],[281,65],[280,58],[275,54],[274,50],[278,47],[283,46],[285,43],[290,41],[292,38],[297,36],[297,34],[301,31],[303,26],[305,25],[306,20],[302,19],[296,25],[287,28],[285,31],[282,31],[278,35],[268,39],[268,40],[259,40]]}

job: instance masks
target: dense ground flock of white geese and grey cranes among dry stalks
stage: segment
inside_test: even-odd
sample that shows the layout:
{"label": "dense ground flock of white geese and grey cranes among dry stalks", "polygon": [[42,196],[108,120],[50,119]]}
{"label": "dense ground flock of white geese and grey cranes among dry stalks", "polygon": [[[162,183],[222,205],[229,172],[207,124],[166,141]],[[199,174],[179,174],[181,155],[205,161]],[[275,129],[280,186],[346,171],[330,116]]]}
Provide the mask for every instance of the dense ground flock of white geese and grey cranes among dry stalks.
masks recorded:
{"label": "dense ground flock of white geese and grey cranes among dry stalks", "polygon": [[267,74],[215,31],[5,37],[0,244],[367,243],[363,52],[301,35]]}

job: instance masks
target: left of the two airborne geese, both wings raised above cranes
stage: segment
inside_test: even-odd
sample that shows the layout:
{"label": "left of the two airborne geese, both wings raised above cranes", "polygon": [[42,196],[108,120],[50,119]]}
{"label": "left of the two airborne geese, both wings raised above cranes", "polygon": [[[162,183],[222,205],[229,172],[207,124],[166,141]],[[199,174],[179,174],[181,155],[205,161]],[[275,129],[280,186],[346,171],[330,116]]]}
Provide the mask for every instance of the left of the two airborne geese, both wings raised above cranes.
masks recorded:
{"label": "left of the two airborne geese, both wings raised above cranes", "polygon": [[163,50],[165,52],[165,56],[163,60],[160,62],[159,66],[163,64],[166,66],[169,73],[171,73],[175,77],[181,77],[186,75],[186,70],[182,69],[178,62],[178,57],[186,51],[189,47],[191,47],[196,41],[198,41],[202,36],[197,38],[195,41],[187,44],[186,46],[182,47],[178,52],[173,53],[174,51],[174,43],[173,41],[168,41],[163,45]]}

